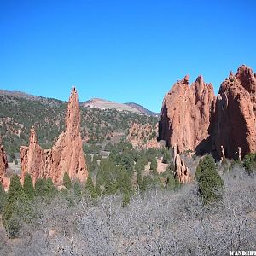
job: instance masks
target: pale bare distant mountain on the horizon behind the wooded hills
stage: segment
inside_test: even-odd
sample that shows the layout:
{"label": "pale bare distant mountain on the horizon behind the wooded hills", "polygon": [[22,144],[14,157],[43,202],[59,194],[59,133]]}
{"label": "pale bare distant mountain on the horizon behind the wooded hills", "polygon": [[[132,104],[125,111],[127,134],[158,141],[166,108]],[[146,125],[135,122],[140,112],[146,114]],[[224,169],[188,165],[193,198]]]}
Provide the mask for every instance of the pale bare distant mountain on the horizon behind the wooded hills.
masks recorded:
{"label": "pale bare distant mountain on the horizon behind the wooded hills", "polygon": [[140,113],[146,114],[151,116],[158,116],[159,113],[154,113],[143,106],[129,102],[129,103],[118,103],[118,102],[111,102],[108,100],[103,100],[99,98],[90,99],[87,102],[81,102],[81,105],[86,108],[99,108],[99,109],[112,109],[115,108],[118,111],[129,111],[132,113]]}

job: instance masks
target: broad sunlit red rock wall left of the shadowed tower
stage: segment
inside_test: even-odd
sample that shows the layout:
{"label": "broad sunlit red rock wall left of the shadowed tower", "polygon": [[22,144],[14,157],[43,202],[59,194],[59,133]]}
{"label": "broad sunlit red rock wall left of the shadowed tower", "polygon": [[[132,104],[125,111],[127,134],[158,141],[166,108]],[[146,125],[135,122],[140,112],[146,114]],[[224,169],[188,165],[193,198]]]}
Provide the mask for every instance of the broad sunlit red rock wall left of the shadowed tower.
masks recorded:
{"label": "broad sunlit red rock wall left of the shadowed tower", "polygon": [[164,98],[159,138],[169,147],[177,144],[181,152],[205,148],[214,98],[212,84],[205,84],[201,76],[190,86],[188,75],[177,81]]}

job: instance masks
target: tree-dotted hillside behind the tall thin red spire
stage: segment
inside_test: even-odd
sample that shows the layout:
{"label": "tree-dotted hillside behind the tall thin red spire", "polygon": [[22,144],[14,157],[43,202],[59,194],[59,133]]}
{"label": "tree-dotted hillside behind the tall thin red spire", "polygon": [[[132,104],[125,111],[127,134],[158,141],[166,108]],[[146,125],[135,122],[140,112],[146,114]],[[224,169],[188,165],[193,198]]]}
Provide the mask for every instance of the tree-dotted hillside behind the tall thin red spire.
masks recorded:
{"label": "tree-dotted hillside behind the tall thin red spire", "polygon": [[[51,148],[55,137],[64,130],[67,102],[30,96],[20,92],[0,91],[0,135],[8,154],[27,145],[32,125],[43,148]],[[133,123],[155,125],[155,117],[118,111],[80,107],[81,135],[87,143],[104,143],[126,137]]]}

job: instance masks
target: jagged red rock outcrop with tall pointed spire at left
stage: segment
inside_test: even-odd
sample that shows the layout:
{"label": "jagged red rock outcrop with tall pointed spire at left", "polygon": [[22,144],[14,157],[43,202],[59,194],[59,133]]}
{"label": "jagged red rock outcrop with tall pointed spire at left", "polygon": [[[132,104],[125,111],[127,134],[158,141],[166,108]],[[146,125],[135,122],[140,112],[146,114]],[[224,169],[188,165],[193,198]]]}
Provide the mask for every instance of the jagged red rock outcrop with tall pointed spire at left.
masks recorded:
{"label": "jagged red rock outcrop with tall pointed spire at left", "polygon": [[84,182],[87,179],[88,171],[80,134],[79,100],[75,88],[72,89],[67,104],[66,131],[61,133],[53,148],[43,150],[32,127],[29,146],[20,148],[20,160],[22,179],[28,172],[34,183],[38,177],[51,177],[59,185],[63,182],[65,172],[72,180]]}

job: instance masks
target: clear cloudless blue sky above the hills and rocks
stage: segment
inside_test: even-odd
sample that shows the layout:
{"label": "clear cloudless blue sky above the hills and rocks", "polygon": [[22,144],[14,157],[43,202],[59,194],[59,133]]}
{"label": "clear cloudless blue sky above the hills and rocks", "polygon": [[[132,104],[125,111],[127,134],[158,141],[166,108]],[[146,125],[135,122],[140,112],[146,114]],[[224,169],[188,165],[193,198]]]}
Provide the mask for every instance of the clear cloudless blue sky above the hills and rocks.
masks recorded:
{"label": "clear cloudless blue sky above the hills and rocks", "polygon": [[0,0],[0,89],[160,112],[177,79],[256,71],[256,1]]}

